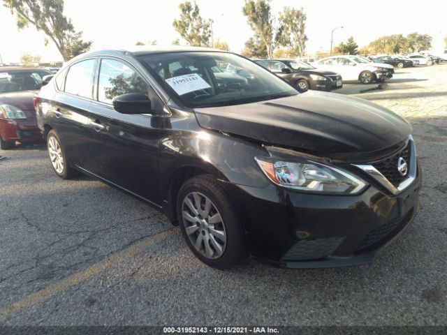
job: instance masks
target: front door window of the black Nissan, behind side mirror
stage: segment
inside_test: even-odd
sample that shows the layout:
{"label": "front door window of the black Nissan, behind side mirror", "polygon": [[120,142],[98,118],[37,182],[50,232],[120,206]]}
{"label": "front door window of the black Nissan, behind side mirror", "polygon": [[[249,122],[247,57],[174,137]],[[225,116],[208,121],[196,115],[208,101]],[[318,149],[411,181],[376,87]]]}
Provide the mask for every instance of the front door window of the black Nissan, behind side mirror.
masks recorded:
{"label": "front door window of the black Nissan, behind side mirror", "polygon": [[111,103],[115,96],[127,93],[147,95],[149,87],[132,68],[112,59],[103,59],[99,70],[98,101]]}

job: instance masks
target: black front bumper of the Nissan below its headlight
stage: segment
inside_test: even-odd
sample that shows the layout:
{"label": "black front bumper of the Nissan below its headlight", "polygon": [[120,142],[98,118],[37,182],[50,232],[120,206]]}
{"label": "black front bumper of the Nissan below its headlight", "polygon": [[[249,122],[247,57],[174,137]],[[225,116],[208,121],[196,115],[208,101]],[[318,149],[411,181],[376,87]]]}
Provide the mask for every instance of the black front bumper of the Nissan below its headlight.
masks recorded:
{"label": "black front bumper of the Nissan below its headlight", "polygon": [[373,185],[360,195],[313,195],[223,184],[244,218],[251,255],[290,268],[371,262],[413,220],[420,185],[419,168],[396,196]]}

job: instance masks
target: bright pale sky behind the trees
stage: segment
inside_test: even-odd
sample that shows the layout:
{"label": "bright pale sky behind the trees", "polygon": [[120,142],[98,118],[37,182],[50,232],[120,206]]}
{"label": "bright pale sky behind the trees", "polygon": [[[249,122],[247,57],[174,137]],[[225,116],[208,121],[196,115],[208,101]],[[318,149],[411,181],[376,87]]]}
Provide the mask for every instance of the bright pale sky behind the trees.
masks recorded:
{"label": "bright pale sky behind the trees", "polygon": [[[157,40],[169,45],[179,38],[173,28],[178,17],[179,0],[65,0],[64,13],[71,17],[76,30],[84,32],[85,40],[92,40],[92,49],[125,48],[140,40]],[[200,14],[214,20],[214,40],[219,38],[233,52],[241,52],[252,31],[242,15],[244,0],[197,0]],[[307,52],[330,49],[330,35],[334,31],[334,45],[350,36],[361,47],[383,35],[430,34],[433,47],[443,48],[447,35],[447,1],[420,0],[272,0],[272,14],[284,6],[304,8],[307,15]],[[4,63],[15,62],[24,52],[40,55],[42,61],[58,61],[61,56],[50,43],[45,47],[45,36],[34,27],[17,31],[15,18],[0,5],[0,55]]]}

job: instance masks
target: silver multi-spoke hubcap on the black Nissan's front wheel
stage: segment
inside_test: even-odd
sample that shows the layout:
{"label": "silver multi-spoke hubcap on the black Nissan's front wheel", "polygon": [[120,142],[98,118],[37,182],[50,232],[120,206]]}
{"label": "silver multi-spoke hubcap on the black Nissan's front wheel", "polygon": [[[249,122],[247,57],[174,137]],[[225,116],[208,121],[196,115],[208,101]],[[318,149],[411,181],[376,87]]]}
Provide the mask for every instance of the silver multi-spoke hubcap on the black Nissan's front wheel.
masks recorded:
{"label": "silver multi-spoke hubcap on the black Nissan's front wheel", "polygon": [[206,258],[223,255],[226,246],[225,225],[212,201],[199,192],[191,192],[183,200],[182,217],[189,241]]}

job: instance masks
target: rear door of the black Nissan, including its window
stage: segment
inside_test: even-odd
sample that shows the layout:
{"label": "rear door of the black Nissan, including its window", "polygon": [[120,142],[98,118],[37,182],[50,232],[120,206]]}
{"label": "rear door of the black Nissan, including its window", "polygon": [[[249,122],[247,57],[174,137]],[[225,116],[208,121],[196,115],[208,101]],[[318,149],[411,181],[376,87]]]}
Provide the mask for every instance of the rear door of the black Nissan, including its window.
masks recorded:
{"label": "rear door of the black Nissan, including its window", "polygon": [[72,64],[56,77],[57,93],[50,104],[52,127],[71,164],[87,170],[95,165],[94,130],[89,123],[96,57]]}

